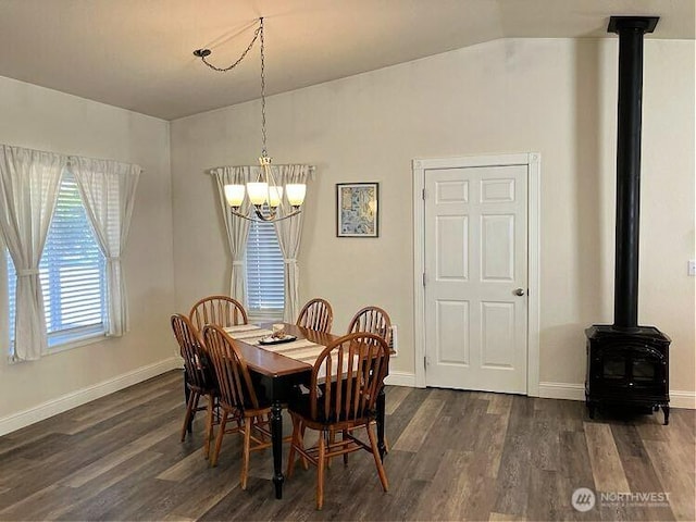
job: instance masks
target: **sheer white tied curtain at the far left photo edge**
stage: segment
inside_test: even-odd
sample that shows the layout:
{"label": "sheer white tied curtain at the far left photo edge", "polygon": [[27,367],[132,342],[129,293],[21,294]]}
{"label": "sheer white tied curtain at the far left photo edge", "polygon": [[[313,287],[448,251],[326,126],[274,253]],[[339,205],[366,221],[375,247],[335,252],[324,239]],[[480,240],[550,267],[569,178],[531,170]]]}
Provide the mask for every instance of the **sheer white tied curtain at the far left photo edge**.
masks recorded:
{"label": "sheer white tied curtain at the far left photo edge", "polygon": [[39,261],[66,158],[0,146],[0,232],[17,272],[14,359],[39,359],[48,349]]}

